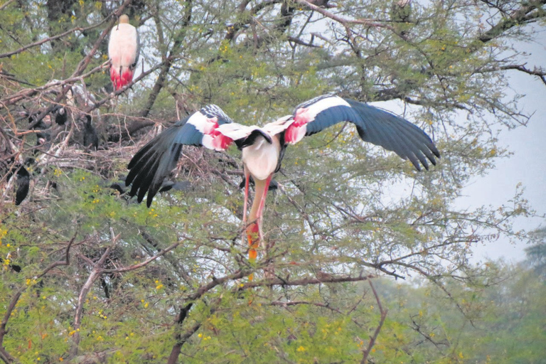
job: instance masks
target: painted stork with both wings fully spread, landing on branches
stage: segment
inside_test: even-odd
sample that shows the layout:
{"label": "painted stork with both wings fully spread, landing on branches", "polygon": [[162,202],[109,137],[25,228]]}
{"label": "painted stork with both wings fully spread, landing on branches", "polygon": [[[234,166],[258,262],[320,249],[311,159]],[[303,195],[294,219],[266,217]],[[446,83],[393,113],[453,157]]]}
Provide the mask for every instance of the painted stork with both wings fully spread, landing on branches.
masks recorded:
{"label": "painted stork with both wings fully spread, landing on branches", "polygon": [[[242,149],[245,173],[243,223],[252,261],[257,257],[258,242],[263,239],[262,213],[269,182],[279,171],[287,145],[338,122],[352,122],[363,141],[394,151],[402,159],[410,159],[418,171],[421,165],[428,170],[427,159],[436,165],[436,158],[440,156],[429,136],[414,124],[382,109],[336,95],[322,95],[304,102],[296,107],[294,114],[264,127],[237,124],[220,107],[208,105],[176,122],[137,151],[127,166],[130,171],[125,184],[132,183],[129,195],[137,195],[139,202],[147,192],[149,207],[164,178],[176,167],[183,145],[223,151],[235,142]],[[250,176],[255,181],[255,198],[247,218]]]}

